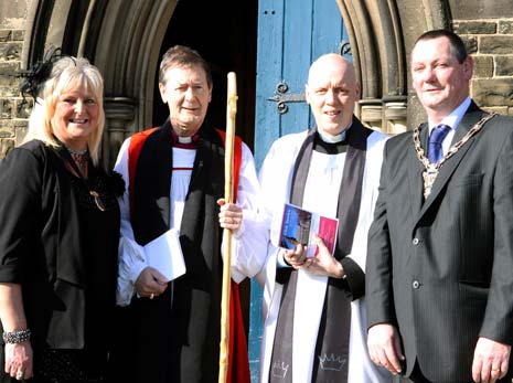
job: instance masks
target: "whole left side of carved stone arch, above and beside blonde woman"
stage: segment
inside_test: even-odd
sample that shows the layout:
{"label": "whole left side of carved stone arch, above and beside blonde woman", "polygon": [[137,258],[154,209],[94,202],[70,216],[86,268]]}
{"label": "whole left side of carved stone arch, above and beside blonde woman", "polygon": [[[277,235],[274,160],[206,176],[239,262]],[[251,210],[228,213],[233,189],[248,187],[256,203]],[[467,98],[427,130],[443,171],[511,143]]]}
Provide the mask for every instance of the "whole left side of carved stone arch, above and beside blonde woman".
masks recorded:
{"label": "whole left side of carved stone arch, above and beside blonde woman", "polygon": [[29,11],[22,67],[51,46],[85,56],[105,78],[103,160],[111,166],[122,140],[150,127],[161,43],[177,0],[35,0]]}

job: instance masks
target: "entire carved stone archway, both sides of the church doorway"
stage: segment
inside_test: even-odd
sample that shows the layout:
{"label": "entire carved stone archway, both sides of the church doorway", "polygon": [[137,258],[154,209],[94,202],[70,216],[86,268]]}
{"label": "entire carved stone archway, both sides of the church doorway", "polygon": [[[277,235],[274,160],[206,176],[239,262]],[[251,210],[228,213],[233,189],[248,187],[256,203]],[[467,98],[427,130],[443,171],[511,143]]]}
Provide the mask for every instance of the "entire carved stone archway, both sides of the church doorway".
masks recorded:
{"label": "entire carved stone archway, both sides of the church doorway", "polygon": [[[368,125],[398,132],[423,118],[408,94],[407,53],[421,32],[448,26],[443,0],[336,0],[361,77],[357,113]],[[84,55],[104,73],[107,129],[103,157],[111,163],[122,140],[151,125],[158,55],[177,0],[34,0],[22,67],[50,45]],[[257,18],[257,14],[255,14]]]}

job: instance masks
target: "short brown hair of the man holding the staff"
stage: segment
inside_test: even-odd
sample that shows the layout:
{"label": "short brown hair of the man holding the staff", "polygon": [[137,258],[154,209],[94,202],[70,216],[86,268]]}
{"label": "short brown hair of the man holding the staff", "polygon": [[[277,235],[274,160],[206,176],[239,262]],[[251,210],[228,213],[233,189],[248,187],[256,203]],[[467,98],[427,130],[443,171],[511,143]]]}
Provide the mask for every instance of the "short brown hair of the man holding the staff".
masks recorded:
{"label": "short brown hair of the man holding the staff", "polygon": [[212,72],[207,62],[193,49],[183,45],[170,47],[160,62],[159,83],[165,84],[165,72],[172,67],[191,67],[199,65],[203,68],[209,87],[212,87]]}

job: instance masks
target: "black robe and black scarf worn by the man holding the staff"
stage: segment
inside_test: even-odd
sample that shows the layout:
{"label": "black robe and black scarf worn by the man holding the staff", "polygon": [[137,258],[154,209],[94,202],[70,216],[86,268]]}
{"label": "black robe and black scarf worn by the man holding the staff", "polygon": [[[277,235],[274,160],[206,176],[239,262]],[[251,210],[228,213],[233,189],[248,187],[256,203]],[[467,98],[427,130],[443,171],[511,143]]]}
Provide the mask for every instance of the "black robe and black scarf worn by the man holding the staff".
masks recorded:
{"label": "black robe and black scarf worn by the man holding the staff", "polygon": [[[148,136],[140,151],[131,212],[140,245],[170,227],[171,148],[168,121]],[[161,296],[133,298],[119,308],[114,382],[217,381],[223,266],[216,200],[223,194],[224,145],[205,123],[180,227],[186,274],[171,281]]]}

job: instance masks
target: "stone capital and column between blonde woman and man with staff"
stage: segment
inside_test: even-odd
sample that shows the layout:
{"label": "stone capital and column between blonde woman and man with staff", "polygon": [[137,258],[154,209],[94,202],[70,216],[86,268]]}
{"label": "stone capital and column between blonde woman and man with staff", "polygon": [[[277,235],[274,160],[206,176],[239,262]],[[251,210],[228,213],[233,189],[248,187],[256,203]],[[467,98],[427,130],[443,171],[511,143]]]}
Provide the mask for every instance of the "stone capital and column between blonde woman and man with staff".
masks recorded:
{"label": "stone capital and column between blonde woman and man with staff", "polygon": [[101,157],[104,166],[111,169],[122,141],[135,132],[131,121],[136,117],[137,102],[129,97],[105,97],[105,131]]}

